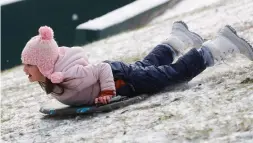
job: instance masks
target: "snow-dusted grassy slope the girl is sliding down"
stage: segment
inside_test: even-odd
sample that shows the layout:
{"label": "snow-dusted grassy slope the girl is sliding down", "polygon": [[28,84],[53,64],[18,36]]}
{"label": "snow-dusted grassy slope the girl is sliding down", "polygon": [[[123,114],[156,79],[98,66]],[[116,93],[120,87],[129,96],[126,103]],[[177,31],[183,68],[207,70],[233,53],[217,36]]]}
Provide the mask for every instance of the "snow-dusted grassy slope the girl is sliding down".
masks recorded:
{"label": "snow-dusted grassy slope the girl is sliding down", "polygon": [[[252,7],[252,0],[184,0],[146,27],[84,48],[92,62],[131,62],[164,40],[176,20],[204,38],[230,24],[252,43]],[[44,118],[38,110],[52,98],[28,82],[22,67],[3,72],[1,82],[1,142],[253,142],[253,63],[242,56],[205,70],[188,86],[93,116]]]}

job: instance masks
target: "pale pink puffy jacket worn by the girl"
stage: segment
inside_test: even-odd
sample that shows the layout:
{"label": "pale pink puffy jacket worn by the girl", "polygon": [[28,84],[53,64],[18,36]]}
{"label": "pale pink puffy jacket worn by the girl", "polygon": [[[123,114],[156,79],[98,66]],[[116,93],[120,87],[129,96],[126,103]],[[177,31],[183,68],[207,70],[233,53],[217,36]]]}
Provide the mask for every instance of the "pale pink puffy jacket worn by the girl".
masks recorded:
{"label": "pale pink puffy jacket worn by the girl", "polygon": [[[59,58],[54,72],[63,73],[62,95],[52,94],[67,105],[93,104],[104,90],[115,91],[112,70],[107,63],[89,64],[85,52],[80,47],[60,47]],[[56,88],[57,92],[59,89]]]}

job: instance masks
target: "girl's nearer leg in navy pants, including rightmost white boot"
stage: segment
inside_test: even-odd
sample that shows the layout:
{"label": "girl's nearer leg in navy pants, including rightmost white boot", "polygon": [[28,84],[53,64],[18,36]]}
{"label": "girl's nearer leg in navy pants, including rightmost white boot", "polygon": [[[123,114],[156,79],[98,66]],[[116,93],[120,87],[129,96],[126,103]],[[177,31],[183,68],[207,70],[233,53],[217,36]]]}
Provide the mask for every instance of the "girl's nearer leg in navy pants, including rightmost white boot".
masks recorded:
{"label": "girl's nearer leg in navy pants, including rightmost white boot", "polygon": [[253,60],[252,46],[240,38],[232,27],[226,26],[215,39],[205,42],[199,50],[191,49],[175,64],[141,67],[113,62],[111,66],[114,77],[129,83],[125,91],[130,92],[126,96],[134,96],[158,92],[167,86],[190,81],[206,67],[212,66],[214,60],[222,60],[231,52],[241,53]]}

